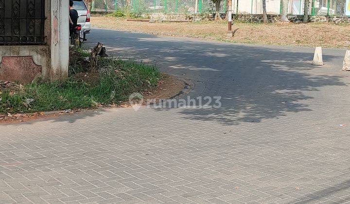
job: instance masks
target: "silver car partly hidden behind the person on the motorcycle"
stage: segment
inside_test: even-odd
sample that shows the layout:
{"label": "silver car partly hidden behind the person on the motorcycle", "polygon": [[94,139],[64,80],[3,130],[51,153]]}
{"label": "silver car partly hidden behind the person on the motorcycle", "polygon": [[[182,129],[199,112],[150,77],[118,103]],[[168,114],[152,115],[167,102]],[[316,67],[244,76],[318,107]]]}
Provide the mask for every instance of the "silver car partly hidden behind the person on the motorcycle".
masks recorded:
{"label": "silver car partly hidden behind the person on the motorcycle", "polygon": [[88,10],[87,4],[84,0],[73,0],[73,9],[78,12],[78,23],[82,26],[82,31],[84,33],[84,40],[86,40],[86,34],[91,31],[90,24],[90,11]]}

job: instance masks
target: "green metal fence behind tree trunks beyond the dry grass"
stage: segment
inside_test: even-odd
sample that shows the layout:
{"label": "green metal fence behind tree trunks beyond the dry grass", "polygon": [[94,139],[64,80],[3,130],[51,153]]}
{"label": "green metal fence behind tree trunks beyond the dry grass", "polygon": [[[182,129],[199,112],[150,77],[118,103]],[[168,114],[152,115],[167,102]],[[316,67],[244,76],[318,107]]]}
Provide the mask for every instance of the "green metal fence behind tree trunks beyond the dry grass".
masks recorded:
{"label": "green metal fence behind tree trunks beyond the dry grass", "polygon": [[[309,15],[350,16],[349,0],[310,0]],[[267,14],[280,14],[281,0],[266,0]],[[113,12],[128,9],[131,13],[203,14],[212,13],[211,0],[94,0],[93,11]],[[221,13],[227,0],[221,1]],[[262,0],[232,0],[233,14],[262,14]],[[304,14],[304,0],[289,0],[289,15]]]}

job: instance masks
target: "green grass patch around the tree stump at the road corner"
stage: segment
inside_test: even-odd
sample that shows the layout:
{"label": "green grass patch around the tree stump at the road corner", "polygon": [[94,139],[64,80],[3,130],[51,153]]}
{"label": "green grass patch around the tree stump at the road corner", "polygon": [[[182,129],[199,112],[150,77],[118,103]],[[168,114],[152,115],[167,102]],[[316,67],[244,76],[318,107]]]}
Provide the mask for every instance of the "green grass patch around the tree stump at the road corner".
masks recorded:
{"label": "green grass patch around the tree stump at the road corner", "polygon": [[[99,104],[120,104],[133,92],[157,86],[160,72],[152,65],[112,58],[99,59],[99,73],[79,73],[86,57],[83,51],[70,64],[65,82],[33,82],[0,89],[0,113],[30,113],[76,108],[93,108]],[[79,71],[86,70],[80,67]],[[88,80],[93,76],[93,80]]]}

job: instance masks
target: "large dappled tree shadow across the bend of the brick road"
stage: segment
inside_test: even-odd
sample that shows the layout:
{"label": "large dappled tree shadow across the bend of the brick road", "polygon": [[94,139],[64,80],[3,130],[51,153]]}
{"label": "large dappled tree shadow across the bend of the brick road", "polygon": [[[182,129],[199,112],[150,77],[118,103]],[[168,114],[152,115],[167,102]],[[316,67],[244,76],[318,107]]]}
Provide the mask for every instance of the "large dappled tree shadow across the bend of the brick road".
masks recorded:
{"label": "large dappled tree shadow across the bend of the brick road", "polygon": [[[335,66],[311,65],[310,48],[181,40],[107,30],[102,30],[102,35],[108,37],[95,40],[105,40],[118,56],[148,59],[165,72],[202,83],[205,88],[195,87],[192,98],[198,94],[222,97],[220,108],[180,109],[186,119],[232,125],[312,111],[309,101],[315,92],[326,86],[346,85],[345,76]],[[342,62],[342,57],[330,53],[323,55],[328,65]]]}

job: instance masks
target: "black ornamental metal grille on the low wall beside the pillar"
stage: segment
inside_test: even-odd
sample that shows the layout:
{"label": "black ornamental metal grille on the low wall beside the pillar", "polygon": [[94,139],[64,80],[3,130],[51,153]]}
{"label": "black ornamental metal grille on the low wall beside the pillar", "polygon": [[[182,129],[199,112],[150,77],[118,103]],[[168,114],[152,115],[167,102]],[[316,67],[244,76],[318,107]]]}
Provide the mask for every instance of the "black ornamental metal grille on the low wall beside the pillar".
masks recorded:
{"label": "black ornamental metal grille on the low wall beside the pillar", "polygon": [[0,45],[43,45],[45,0],[0,0]]}

